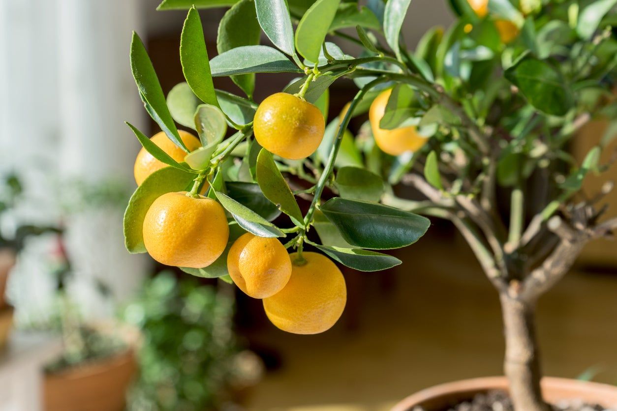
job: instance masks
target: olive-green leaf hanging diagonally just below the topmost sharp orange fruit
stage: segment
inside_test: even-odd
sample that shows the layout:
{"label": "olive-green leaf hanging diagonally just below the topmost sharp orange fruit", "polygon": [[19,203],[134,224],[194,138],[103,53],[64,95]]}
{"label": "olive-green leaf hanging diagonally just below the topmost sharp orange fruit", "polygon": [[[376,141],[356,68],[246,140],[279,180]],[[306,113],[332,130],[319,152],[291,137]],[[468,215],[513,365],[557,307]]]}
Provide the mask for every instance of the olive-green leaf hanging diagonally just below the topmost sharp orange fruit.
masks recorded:
{"label": "olive-green leaf hanging diagonally just below the topmost sharp orange fruit", "polygon": [[272,201],[279,210],[287,214],[291,221],[298,227],[304,227],[304,218],[296,202],[296,197],[289,189],[289,185],[276,167],[271,153],[262,149],[257,157],[257,183],[262,189],[263,195]]}

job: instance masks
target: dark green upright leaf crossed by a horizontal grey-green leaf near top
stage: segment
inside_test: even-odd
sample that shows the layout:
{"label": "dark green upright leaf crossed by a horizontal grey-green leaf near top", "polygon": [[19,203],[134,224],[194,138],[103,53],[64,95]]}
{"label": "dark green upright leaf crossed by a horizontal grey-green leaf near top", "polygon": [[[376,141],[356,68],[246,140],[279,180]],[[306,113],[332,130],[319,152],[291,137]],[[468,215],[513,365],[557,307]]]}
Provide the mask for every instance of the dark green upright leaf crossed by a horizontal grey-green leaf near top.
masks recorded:
{"label": "dark green upright leaf crossed by a horizontal grey-green leaf near top", "polygon": [[[255,2],[253,0],[241,0],[227,10],[218,25],[217,51],[223,54],[226,51],[241,46],[255,46],[259,44],[262,30],[257,22]],[[212,68],[212,63],[210,63]],[[252,99],[255,90],[255,75],[253,73],[231,76],[231,81],[236,83]]]}

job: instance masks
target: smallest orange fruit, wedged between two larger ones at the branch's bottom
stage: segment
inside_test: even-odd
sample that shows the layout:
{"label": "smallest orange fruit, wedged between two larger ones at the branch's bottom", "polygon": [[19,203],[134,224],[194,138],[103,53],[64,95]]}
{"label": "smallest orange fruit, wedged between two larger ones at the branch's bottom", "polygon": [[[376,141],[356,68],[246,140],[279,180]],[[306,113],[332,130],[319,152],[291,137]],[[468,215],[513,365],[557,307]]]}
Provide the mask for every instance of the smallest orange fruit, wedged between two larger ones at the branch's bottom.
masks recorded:
{"label": "smallest orange fruit, wedged between two larger ones at the branch's bottom", "polygon": [[227,269],[234,283],[253,298],[267,298],[283,290],[291,277],[291,259],[276,238],[246,233],[227,254]]}

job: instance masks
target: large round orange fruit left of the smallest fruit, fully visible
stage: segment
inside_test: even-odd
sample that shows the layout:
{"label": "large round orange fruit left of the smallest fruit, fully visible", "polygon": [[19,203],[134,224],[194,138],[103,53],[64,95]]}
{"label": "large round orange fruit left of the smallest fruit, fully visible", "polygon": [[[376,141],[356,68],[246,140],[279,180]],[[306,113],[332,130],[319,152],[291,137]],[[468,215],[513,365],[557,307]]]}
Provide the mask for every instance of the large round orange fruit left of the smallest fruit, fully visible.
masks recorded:
{"label": "large round orange fruit left of the smallest fruit, fully visible", "polygon": [[217,201],[175,192],[154,200],[144,218],[143,234],[146,250],[156,261],[203,268],[225,251],[230,230]]}

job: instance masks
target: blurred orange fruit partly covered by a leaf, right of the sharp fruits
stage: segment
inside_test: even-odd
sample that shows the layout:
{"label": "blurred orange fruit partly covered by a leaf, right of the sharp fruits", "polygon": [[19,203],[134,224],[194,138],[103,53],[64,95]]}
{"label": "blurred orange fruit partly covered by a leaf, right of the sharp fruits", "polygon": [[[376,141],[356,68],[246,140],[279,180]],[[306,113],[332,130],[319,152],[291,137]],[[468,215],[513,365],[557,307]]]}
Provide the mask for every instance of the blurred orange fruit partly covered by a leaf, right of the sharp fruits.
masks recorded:
{"label": "blurred orange fruit partly covered by a leaf, right of the sharp fruits", "polygon": [[390,155],[401,155],[405,152],[416,152],[422,148],[426,137],[418,134],[414,126],[395,128],[392,130],[379,127],[379,121],[386,113],[387,100],[390,98],[392,89],[388,89],[373,100],[371,108],[368,110],[368,119],[373,129],[373,137],[379,149]]}

